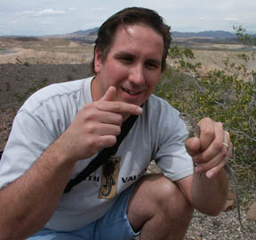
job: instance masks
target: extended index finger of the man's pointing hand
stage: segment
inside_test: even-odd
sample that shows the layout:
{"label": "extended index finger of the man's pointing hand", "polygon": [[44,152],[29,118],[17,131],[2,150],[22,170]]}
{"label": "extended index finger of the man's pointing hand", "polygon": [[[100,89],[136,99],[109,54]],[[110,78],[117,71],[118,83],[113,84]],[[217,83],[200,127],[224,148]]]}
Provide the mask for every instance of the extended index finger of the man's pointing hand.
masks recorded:
{"label": "extended index finger of the man's pointing hand", "polygon": [[103,112],[116,112],[132,115],[140,115],[142,108],[138,105],[131,105],[123,102],[116,101],[99,101],[96,104],[97,108]]}

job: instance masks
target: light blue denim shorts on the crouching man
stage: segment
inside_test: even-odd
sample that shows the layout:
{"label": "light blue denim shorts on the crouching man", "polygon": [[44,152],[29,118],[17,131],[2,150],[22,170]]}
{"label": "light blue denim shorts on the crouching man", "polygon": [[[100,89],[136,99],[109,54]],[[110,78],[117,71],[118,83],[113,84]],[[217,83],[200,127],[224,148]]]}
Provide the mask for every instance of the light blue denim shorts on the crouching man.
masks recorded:
{"label": "light blue denim shorts on the crouching man", "polygon": [[132,193],[133,184],[127,190],[117,197],[115,204],[110,208],[100,220],[93,221],[84,228],[79,228],[73,231],[55,231],[49,228],[43,228],[35,235],[28,239],[63,239],[63,240],[122,240],[132,239],[134,236],[139,236],[140,232],[135,233],[128,221],[127,206],[130,195]]}

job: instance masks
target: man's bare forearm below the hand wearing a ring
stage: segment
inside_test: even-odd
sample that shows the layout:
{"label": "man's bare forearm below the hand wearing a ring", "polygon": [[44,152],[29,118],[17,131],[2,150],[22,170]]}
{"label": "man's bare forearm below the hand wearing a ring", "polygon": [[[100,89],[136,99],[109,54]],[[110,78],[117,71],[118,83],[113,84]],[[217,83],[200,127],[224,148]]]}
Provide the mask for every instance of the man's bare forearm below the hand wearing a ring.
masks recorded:
{"label": "man's bare forearm below the hand wearing a ring", "polygon": [[218,215],[228,197],[228,178],[224,169],[211,179],[205,174],[194,174],[192,205],[201,213]]}

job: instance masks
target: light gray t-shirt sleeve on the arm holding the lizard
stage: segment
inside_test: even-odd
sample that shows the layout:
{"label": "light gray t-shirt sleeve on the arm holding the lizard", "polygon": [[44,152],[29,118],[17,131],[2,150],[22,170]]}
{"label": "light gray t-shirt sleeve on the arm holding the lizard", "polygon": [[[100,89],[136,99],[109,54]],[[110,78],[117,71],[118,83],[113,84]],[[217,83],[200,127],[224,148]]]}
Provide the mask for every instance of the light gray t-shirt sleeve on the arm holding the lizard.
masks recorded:
{"label": "light gray t-shirt sleeve on the arm holding the lizard", "polygon": [[173,108],[169,113],[164,112],[163,119],[159,121],[158,126],[155,161],[162,173],[174,182],[194,172],[192,158],[188,155],[184,143],[188,132],[179,112]]}

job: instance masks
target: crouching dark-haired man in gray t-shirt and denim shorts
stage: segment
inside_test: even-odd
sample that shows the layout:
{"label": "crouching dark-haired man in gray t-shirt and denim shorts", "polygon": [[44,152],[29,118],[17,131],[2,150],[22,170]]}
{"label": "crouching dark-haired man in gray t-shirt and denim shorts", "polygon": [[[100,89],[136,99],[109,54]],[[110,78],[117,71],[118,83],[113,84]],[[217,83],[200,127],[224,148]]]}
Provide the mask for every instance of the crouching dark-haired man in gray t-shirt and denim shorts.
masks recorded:
{"label": "crouching dark-haired man in gray t-shirt and denim shorts", "polygon": [[[201,120],[200,138],[186,141],[192,160],[179,112],[152,95],[169,30],[151,10],[117,12],[100,27],[95,77],[28,98],[0,166],[0,239],[182,239],[194,208],[220,213],[228,132]],[[69,179],[116,143],[130,115],[139,117],[115,156],[63,194]],[[144,175],[151,159],[163,174]]]}

